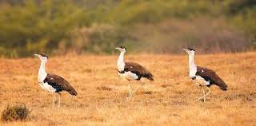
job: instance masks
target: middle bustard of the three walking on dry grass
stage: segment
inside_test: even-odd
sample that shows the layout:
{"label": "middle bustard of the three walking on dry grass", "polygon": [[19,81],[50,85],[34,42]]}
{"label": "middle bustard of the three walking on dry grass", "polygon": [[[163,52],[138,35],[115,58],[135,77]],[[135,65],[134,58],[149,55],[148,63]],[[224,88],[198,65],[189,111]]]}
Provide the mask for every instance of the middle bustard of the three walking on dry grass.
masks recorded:
{"label": "middle bustard of the three walking on dry grass", "polygon": [[[129,81],[129,100],[131,99],[131,96],[138,91],[144,85],[142,83],[141,78],[144,77],[150,81],[154,81],[154,76],[152,73],[150,73],[149,70],[147,70],[142,65],[139,65],[138,63],[134,62],[125,62],[124,61],[124,55],[126,53],[126,47],[120,46],[115,49],[118,49],[120,51],[120,55],[118,57],[118,75],[127,81]],[[141,85],[139,85],[134,91],[131,90],[130,81],[140,81]]]}

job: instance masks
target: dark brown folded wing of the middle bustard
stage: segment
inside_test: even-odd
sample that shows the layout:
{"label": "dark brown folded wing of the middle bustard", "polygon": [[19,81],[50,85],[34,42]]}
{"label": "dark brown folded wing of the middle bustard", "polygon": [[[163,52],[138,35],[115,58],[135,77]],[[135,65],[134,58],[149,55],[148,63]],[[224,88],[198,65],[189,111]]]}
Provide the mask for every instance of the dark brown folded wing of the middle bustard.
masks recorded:
{"label": "dark brown folded wing of the middle bustard", "polygon": [[132,73],[135,73],[138,76],[138,80],[140,80],[141,77],[145,77],[149,79],[150,81],[154,81],[152,73],[148,71],[146,68],[144,68],[142,65],[139,65],[134,62],[126,62],[125,69],[126,72],[130,71]]}

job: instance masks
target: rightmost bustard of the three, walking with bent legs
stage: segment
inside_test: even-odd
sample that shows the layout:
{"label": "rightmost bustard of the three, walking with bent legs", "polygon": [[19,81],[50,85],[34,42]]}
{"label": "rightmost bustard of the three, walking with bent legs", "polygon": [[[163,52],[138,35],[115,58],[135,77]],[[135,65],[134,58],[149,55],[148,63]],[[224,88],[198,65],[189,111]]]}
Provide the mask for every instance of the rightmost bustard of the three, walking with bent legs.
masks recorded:
{"label": "rightmost bustard of the three, walking with bent legs", "polygon": [[[206,102],[206,96],[212,93],[210,90],[211,85],[217,85],[222,91],[227,90],[226,83],[214,72],[214,70],[194,64],[194,49],[188,48],[183,50],[189,54],[190,79],[196,80],[199,86],[202,87],[203,96],[198,98],[199,101],[203,98],[203,102]],[[208,93],[205,93],[204,87],[207,87]]]}

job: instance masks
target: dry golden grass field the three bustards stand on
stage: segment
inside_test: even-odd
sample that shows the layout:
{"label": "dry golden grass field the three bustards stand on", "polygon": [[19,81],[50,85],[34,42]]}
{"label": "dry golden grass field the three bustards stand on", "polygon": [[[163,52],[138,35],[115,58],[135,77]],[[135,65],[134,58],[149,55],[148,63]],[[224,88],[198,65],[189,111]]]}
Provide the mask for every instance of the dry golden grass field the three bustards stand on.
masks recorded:
{"label": "dry golden grass field the three bustards stand on", "polygon": [[[46,70],[64,77],[78,96],[62,93],[61,108],[52,108],[52,93],[38,85],[37,57],[0,58],[0,111],[26,104],[30,120],[0,125],[256,125],[256,53],[196,55],[195,63],[214,69],[229,86],[213,86],[206,103],[202,89],[188,77],[188,56],[126,55],[154,74],[127,100],[128,81],[118,77],[114,56],[50,57]],[[133,82],[133,88],[139,85]]]}

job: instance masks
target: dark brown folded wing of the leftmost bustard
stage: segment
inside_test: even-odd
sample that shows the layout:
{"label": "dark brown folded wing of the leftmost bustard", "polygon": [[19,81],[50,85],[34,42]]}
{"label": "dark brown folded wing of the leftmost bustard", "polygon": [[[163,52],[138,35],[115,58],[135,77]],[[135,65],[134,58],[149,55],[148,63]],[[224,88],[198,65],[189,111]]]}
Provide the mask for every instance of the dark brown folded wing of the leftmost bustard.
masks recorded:
{"label": "dark brown folded wing of the leftmost bustard", "polygon": [[48,85],[51,85],[56,89],[56,92],[62,92],[67,91],[71,95],[76,96],[77,92],[74,90],[74,88],[70,85],[68,81],[66,81],[64,78],[59,77],[58,75],[55,74],[47,74],[46,79],[44,82],[47,82]]}

